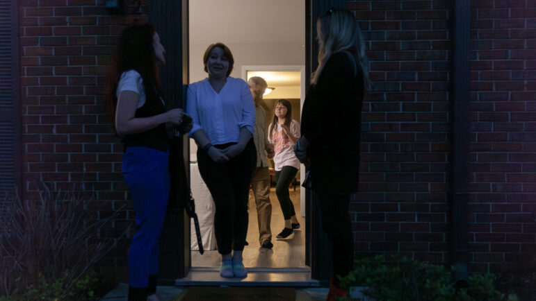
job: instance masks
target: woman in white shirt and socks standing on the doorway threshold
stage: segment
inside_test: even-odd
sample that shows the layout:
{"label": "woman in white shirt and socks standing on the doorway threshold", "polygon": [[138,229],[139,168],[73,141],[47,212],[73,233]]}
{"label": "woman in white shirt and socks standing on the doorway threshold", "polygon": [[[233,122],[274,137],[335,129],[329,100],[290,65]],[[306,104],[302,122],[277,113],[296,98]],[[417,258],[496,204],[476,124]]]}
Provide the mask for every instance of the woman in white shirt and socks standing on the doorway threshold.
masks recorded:
{"label": "woman in white shirt and socks standing on the doorway threshold", "polygon": [[245,277],[242,263],[247,234],[247,198],[257,164],[252,136],[255,107],[250,87],[229,76],[234,58],[227,46],[211,44],[204,56],[208,78],[190,84],[186,112],[189,136],[197,144],[201,177],[216,205],[214,227],[222,255],[222,277]]}

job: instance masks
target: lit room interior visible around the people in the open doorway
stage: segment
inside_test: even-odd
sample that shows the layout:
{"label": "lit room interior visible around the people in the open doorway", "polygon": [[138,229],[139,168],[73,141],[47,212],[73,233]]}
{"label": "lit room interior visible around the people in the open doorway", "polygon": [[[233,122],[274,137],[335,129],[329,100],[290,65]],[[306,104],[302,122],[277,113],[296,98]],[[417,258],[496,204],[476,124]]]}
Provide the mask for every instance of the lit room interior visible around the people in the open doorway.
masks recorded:
{"label": "lit room interior visible around the people in the open doorway", "polygon": [[[254,72],[298,73],[300,83],[298,94],[277,96],[276,92],[284,91],[284,87],[279,83],[279,86],[275,87],[273,96],[267,95],[265,100],[270,109],[270,105],[273,106],[277,98],[293,99],[297,106],[293,107],[293,110],[298,112],[298,118],[293,119],[299,122],[305,91],[305,5],[305,1],[302,0],[189,1],[189,82],[194,83],[206,78],[202,55],[209,44],[222,42],[229,46],[234,55],[234,70],[230,75],[234,78],[247,80]],[[270,80],[267,82],[269,87],[276,85],[274,82],[270,83]],[[273,117],[273,108],[271,109],[271,112],[266,110],[266,119],[270,121]],[[195,235],[191,235],[190,256],[194,271],[211,270],[220,266],[220,255],[216,250],[216,239],[211,228],[214,208],[210,193],[204,187],[197,169],[196,152],[195,142],[190,139],[190,186],[196,200],[196,211],[200,216],[206,250],[204,255],[200,255],[197,251]],[[303,178],[304,171],[300,171],[299,174]],[[247,234],[249,245],[244,250],[244,264],[249,270],[283,268],[287,271],[298,269],[310,274],[310,269],[305,264],[305,218],[307,216],[305,216],[304,206],[305,193],[300,189],[301,180],[297,180],[295,186],[291,184],[290,188],[291,200],[302,225],[302,228],[295,231],[291,239],[279,241],[275,238],[284,227],[284,218],[275,195],[275,187],[270,189],[270,200],[273,205],[271,230],[274,247],[272,250],[259,247],[257,212],[250,191],[250,223]]]}

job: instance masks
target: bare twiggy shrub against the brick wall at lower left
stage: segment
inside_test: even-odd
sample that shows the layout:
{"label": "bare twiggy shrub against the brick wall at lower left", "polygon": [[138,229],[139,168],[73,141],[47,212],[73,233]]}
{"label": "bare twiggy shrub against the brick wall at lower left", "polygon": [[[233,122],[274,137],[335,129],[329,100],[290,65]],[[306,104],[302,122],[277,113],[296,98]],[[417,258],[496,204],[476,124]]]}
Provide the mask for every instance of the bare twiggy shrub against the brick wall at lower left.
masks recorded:
{"label": "bare twiggy shrub against the brick wall at lower left", "polygon": [[101,230],[124,208],[97,218],[88,209],[92,194],[46,187],[39,194],[0,203],[0,300],[95,298],[92,267],[129,229],[108,239]]}

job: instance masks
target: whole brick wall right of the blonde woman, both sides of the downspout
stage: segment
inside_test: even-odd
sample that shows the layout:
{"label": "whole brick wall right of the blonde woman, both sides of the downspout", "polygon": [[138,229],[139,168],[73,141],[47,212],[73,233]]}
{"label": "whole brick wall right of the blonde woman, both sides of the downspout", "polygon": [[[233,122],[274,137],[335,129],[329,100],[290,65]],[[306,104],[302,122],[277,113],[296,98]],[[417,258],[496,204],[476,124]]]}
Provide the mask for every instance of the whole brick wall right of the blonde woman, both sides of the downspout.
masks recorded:
{"label": "whole brick wall right of the blonde woman, both sides of the downspout", "polygon": [[[357,253],[448,262],[452,1],[348,1],[366,38]],[[471,1],[472,271],[536,254],[536,1]],[[521,256],[520,256],[521,255]]]}

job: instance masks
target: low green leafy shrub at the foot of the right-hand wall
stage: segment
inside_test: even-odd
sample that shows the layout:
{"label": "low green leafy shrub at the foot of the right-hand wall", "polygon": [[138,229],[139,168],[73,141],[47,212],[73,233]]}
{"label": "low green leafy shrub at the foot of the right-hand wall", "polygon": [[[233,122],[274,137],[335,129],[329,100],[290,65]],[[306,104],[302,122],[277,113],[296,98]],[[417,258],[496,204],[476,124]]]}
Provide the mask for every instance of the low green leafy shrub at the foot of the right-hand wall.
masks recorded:
{"label": "low green leafy shrub at the foot of the right-hand wall", "polygon": [[341,279],[341,286],[365,286],[364,295],[377,301],[517,301],[495,288],[495,276],[477,274],[466,287],[457,287],[452,268],[406,257],[391,265],[381,255],[356,261],[355,270]]}

